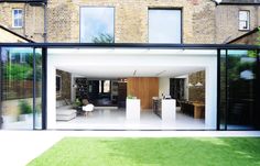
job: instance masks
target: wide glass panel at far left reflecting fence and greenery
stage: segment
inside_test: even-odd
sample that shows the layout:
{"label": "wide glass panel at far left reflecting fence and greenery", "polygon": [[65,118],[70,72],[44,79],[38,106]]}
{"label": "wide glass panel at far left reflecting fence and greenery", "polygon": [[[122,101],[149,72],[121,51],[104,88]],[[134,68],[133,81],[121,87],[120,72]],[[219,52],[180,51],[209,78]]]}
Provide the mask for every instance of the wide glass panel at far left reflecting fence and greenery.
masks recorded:
{"label": "wide glass panel at far left reflecting fence and greenery", "polygon": [[[20,63],[20,54],[25,63]],[[33,129],[33,48],[1,49],[3,129]]]}

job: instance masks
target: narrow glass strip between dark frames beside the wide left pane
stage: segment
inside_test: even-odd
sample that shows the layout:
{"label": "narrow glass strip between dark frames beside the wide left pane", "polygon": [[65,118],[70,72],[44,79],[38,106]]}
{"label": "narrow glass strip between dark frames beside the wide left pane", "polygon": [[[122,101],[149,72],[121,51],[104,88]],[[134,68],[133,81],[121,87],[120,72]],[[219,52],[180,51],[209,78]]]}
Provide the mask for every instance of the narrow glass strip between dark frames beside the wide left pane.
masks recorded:
{"label": "narrow glass strip between dark frames beside the wide left pane", "polygon": [[35,49],[35,129],[42,129],[42,48]]}

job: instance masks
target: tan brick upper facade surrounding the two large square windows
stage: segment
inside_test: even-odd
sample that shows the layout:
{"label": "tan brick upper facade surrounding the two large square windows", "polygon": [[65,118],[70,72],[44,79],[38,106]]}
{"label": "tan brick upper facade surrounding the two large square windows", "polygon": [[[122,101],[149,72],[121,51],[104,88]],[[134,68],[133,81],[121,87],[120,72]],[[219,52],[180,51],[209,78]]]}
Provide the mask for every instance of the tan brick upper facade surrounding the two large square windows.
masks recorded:
{"label": "tan brick upper facade surrounding the two large square windows", "polygon": [[112,8],[116,43],[148,43],[153,9],[181,11],[177,43],[227,43],[260,24],[259,0],[1,1],[0,24],[36,42],[80,42],[80,10],[90,7]]}

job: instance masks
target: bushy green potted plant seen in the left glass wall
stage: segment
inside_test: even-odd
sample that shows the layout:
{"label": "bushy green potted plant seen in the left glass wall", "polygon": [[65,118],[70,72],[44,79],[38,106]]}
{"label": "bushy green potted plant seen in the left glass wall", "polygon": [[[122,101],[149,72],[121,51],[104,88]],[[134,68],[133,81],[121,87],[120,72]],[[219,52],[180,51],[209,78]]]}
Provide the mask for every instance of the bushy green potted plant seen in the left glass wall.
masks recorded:
{"label": "bushy green potted plant seen in the left glass wall", "polygon": [[19,109],[20,109],[20,121],[26,121],[32,118],[32,107],[29,104],[26,100],[20,100],[19,101]]}

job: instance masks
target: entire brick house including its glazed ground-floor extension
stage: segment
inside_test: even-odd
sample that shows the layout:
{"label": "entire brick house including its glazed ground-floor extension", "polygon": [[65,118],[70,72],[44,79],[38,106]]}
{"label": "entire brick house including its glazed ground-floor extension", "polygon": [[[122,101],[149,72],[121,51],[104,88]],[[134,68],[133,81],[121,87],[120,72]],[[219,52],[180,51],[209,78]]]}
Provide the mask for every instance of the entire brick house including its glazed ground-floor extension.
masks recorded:
{"label": "entire brick house including its glazed ground-floor extension", "polygon": [[259,4],[0,0],[0,129],[259,130]]}

